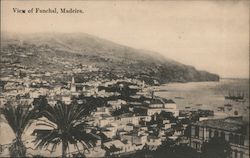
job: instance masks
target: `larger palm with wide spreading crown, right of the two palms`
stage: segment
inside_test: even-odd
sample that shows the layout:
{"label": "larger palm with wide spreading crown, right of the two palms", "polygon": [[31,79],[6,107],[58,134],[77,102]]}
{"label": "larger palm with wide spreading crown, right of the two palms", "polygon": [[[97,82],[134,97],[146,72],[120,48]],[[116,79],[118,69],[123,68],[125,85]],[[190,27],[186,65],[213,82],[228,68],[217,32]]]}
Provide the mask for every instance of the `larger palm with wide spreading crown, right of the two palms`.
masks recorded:
{"label": "larger palm with wide spreading crown, right of the two palms", "polygon": [[40,125],[47,126],[48,129],[36,129],[36,148],[48,147],[52,144],[52,151],[62,144],[62,157],[66,157],[69,144],[78,148],[77,142],[85,148],[93,144],[93,136],[86,132],[86,117],[91,113],[93,106],[88,104],[77,104],[76,102],[65,105],[58,101],[55,106],[48,106],[42,111],[42,116],[46,120],[41,120]]}

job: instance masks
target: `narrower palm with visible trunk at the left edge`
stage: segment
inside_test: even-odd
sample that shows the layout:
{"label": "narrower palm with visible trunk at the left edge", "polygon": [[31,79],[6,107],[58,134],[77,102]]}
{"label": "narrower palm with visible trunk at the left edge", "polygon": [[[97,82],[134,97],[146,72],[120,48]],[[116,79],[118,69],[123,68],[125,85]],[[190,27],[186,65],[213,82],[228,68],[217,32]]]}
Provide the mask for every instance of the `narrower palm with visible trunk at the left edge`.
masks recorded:
{"label": "narrower palm with visible trunk at the left edge", "polygon": [[15,134],[15,139],[9,148],[10,157],[25,157],[26,147],[22,135],[34,119],[33,110],[29,107],[6,105],[0,111]]}

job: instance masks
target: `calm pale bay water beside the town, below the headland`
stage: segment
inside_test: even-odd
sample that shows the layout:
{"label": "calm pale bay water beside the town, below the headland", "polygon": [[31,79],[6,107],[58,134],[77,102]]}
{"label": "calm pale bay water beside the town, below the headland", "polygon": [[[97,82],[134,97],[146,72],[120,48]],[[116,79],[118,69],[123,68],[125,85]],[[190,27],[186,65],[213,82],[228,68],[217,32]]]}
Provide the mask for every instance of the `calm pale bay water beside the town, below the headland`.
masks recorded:
{"label": "calm pale bay water beside the town, below the headland", "polygon": [[[161,85],[155,95],[173,99],[179,109],[209,109],[220,113],[218,107],[231,104],[232,109],[225,109],[228,115],[249,117],[249,79],[221,79],[219,82],[189,82]],[[245,102],[226,100],[229,92],[235,95],[244,93]]]}

